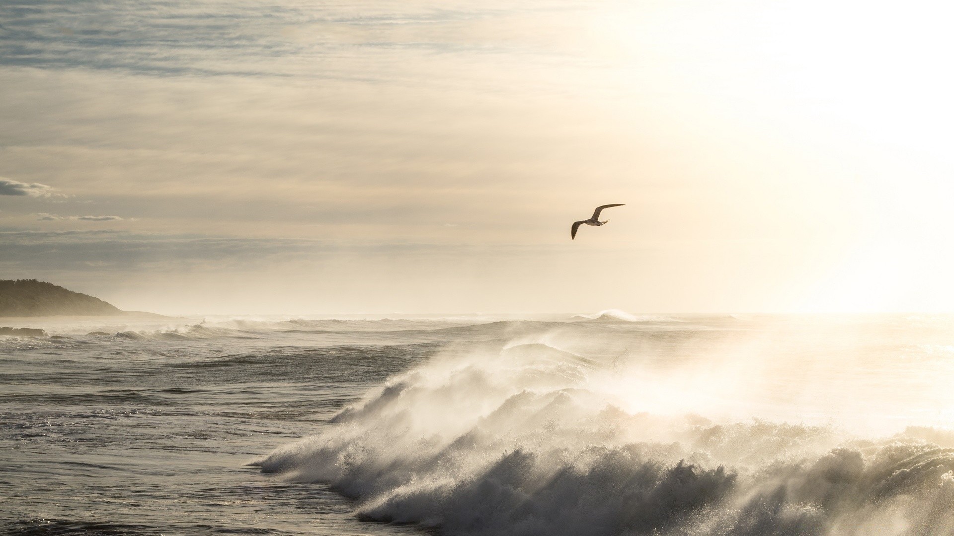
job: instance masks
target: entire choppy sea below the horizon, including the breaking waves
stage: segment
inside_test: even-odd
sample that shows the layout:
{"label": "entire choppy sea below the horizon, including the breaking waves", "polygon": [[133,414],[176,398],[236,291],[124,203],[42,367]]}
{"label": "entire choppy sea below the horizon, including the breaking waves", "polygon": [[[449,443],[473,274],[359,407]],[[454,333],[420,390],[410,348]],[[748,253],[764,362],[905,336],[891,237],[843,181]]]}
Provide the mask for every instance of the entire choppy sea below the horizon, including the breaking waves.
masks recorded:
{"label": "entire choppy sea below the horizon, including the breaking waves", "polygon": [[0,324],[2,534],[954,534],[950,316]]}

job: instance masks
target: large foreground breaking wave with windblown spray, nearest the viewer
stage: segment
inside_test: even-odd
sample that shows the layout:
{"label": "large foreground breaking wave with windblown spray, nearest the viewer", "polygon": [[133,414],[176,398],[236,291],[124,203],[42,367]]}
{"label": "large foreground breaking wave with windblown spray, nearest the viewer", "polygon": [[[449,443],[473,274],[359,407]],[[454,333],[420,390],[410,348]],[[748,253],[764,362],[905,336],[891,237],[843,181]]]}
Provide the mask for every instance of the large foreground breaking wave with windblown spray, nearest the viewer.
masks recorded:
{"label": "large foreground breaking wave with windblown spray, nearest the viewer", "polygon": [[[954,526],[954,449],[936,444],[950,439],[943,432],[874,441],[829,426],[648,413],[603,387],[618,374],[540,343],[448,351],[342,411],[329,431],[255,464],[333,484],[368,519],[448,534],[940,535]],[[633,400],[652,381],[634,378]]]}

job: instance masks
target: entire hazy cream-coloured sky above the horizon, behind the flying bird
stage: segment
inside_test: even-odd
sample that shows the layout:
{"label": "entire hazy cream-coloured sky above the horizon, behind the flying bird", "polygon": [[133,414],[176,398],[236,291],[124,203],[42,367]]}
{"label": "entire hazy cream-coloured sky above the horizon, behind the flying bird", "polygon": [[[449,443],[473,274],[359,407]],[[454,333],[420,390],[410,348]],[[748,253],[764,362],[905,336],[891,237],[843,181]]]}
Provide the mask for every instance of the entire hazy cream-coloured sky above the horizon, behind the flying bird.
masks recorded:
{"label": "entire hazy cream-coloured sky above the horizon, behind the flying bird", "polygon": [[0,0],[0,278],[165,314],[952,311],[952,10]]}

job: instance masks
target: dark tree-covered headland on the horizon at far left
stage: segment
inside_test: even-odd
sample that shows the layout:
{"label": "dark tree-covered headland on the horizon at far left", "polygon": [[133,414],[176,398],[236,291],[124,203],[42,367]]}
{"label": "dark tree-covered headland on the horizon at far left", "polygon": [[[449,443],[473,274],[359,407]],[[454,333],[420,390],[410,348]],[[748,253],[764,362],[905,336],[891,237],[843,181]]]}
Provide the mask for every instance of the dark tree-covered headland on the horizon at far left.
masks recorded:
{"label": "dark tree-covered headland on the horizon at far left", "polygon": [[0,317],[112,317],[126,315],[111,303],[36,279],[0,279]]}

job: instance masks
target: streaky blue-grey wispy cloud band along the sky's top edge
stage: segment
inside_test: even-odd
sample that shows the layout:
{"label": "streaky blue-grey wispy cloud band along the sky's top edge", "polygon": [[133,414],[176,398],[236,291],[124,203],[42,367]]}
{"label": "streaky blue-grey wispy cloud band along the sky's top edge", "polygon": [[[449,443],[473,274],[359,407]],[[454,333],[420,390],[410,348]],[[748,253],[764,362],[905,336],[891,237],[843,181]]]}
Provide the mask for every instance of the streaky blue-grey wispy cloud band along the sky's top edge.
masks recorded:
{"label": "streaky blue-grey wispy cloud band along the sky's top edge", "polygon": [[[282,0],[269,5],[245,0],[50,0],[27,10],[0,3],[0,46],[16,52],[0,56],[0,65],[156,75],[301,75],[309,71],[302,67],[312,64],[302,61],[306,58],[325,64],[407,52],[521,50],[527,44],[513,43],[512,36],[533,33],[514,17],[532,17],[534,28],[539,28],[541,14],[583,3],[528,0],[518,8],[506,2],[474,4],[450,1],[437,10],[415,0],[363,3],[361,8]],[[513,26],[517,28],[508,30]],[[382,74],[338,68],[321,73],[342,78]]]}

